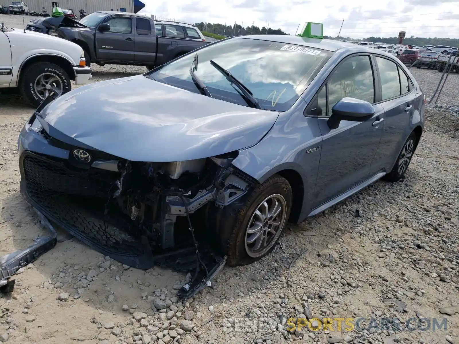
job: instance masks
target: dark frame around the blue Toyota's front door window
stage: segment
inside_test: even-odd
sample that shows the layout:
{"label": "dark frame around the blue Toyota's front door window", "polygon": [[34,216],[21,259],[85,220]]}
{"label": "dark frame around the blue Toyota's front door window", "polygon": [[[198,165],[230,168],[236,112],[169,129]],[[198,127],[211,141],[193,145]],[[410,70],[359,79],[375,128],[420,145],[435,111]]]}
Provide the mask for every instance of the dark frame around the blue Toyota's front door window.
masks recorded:
{"label": "dark frame around the blue Toyota's front door window", "polygon": [[[343,58],[336,66],[335,68],[333,68],[333,70],[330,72],[329,75],[327,75],[327,77],[325,78],[325,81],[320,85],[319,89],[317,90],[317,92],[314,94],[311,102],[306,106],[306,109],[304,110],[303,112],[303,115],[304,117],[315,117],[315,118],[329,118],[330,115],[328,115],[328,107],[329,107],[329,101],[328,101],[328,82],[331,78],[331,76],[333,75],[333,73],[336,71],[336,69],[338,67],[340,67],[340,65],[342,63],[344,63],[345,61],[347,61],[348,59],[352,58],[352,57],[355,57],[355,56],[368,56],[369,58],[369,61],[370,61],[370,66],[371,66],[371,72],[373,73],[373,89],[375,91],[375,94],[374,94],[374,103],[372,103],[372,105],[375,105],[377,104],[378,100],[381,99],[381,83],[380,83],[380,79],[379,79],[379,70],[377,68],[377,64],[376,64],[376,61],[375,61],[375,58],[373,56],[373,54],[368,54],[368,53],[355,53],[355,54],[351,54],[351,55],[347,55],[345,58]],[[378,75],[376,75],[376,72],[378,73]],[[379,85],[379,87],[377,87]],[[315,104],[315,107],[317,108],[317,98],[319,96],[319,93],[320,91],[322,91],[322,89],[325,87],[325,94],[326,94],[326,100],[327,100],[327,112],[326,113],[326,116],[317,116],[317,115],[311,115],[309,114],[308,112],[313,110],[311,109],[311,106],[314,106]]]}

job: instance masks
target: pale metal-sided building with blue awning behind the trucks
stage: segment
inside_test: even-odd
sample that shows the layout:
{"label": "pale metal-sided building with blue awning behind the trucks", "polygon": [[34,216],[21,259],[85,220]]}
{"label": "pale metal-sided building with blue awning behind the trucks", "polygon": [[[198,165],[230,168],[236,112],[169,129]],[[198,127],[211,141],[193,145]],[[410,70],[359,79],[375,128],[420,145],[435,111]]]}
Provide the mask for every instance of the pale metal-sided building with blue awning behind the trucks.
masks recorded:
{"label": "pale metal-sided building with blue awning behind the trucks", "polygon": [[[29,11],[41,12],[43,9],[48,13],[52,11],[51,0],[22,0],[29,8]],[[140,0],[58,0],[62,9],[73,10],[78,16],[79,10],[90,14],[96,11],[121,11],[137,13],[145,4]]]}

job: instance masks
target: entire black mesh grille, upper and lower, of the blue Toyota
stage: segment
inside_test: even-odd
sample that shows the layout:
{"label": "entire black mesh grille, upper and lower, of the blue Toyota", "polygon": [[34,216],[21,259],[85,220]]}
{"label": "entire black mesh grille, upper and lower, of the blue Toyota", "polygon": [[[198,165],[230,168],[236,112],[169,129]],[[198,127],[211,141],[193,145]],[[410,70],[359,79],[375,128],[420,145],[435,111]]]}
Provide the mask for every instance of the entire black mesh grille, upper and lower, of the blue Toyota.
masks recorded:
{"label": "entire black mesh grille, upper and lower, of the blue Toyota", "polygon": [[132,231],[128,224],[123,228],[113,225],[104,215],[107,197],[105,200],[87,198],[108,195],[109,183],[104,171],[74,172],[62,162],[31,153],[24,155],[22,168],[28,197],[46,216],[78,239],[125,263],[128,261],[121,256],[144,254],[139,233]]}

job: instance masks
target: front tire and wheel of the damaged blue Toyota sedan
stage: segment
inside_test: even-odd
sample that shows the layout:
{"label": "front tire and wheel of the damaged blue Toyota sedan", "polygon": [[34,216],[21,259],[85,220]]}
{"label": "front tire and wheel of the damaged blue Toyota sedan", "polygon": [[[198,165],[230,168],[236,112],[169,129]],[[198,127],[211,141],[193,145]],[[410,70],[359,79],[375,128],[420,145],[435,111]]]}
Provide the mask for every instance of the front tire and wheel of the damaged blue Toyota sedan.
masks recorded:
{"label": "front tire and wheel of the damaged blue Toyota sedan", "polygon": [[251,264],[274,250],[290,216],[291,186],[274,175],[236,203],[235,208],[219,209],[215,221],[211,220],[229,266]]}

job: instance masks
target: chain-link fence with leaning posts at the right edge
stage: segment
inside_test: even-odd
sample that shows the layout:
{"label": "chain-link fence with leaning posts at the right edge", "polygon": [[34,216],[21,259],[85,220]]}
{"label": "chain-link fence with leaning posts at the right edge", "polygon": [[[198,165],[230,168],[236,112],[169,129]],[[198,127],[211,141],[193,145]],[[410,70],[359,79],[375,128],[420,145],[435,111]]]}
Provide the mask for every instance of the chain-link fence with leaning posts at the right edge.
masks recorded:
{"label": "chain-link fence with leaning posts at the right edge", "polygon": [[441,54],[434,61],[417,58],[407,66],[422,88],[429,105],[459,112],[458,56],[459,52],[456,51],[453,54]]}

